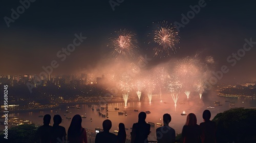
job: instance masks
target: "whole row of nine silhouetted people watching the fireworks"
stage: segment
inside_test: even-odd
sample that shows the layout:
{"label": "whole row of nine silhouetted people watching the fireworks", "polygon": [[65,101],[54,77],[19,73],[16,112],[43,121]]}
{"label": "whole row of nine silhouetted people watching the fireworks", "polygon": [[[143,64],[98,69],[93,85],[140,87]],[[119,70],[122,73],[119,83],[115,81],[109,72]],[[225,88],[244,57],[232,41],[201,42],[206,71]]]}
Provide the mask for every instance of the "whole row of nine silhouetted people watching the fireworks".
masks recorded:
{"label": "whole row of nine silhouetted people watching the fireworks", "polygon": [[[194,113],[189,113],[186,118],[186,123],[182,129],[182,139],[180,142],[202,142],[215,143],[216,142],[216,124],[210,121],[211,113],[209,110],[203,112],[204,122],[197,124],[197,117]],[[140,112],[138,116],[138,123],[134,123],[131,132],[131,143],[148,142],[147,137],[150,134],[150,124],[145,122],[146,113]],[[157,142],[175,142],[176,134],[169,123],[172,117],[169,114],[163,115],[162,127],[156,129]],[[54,115],[53,126],[50,126],[51,115],[44,116],[44,125],[40,126],[37,131],[40,142],[69,142],[69,143],[87,143],[86,129],[81,126],[82,118],[79,114],[74,115],[71,124],[66,134],[66,129],[59,126],[61,123],[60,115]],[[105,120],[102,123],[103,132],[97,133],[95,143],[110,142],[110,143],[124,143],[126,141],[126,131],[123,123],[119,124],[118,135],[110,133],[112,122]],[[67,137],[67,138],[66,138]],[[67,139],[67,140],[66,140]]]}

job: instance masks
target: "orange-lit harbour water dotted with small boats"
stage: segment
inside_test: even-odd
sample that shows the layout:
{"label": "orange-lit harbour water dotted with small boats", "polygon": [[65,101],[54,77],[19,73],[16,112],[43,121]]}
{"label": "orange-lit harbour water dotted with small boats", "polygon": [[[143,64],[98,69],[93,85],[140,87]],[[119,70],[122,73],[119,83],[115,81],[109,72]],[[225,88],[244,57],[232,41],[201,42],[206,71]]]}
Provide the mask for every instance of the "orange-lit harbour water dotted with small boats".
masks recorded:
{"label": "orange-lit harbour water dotted with small boats", "polygon": [[[220,101],[223,106],[215,106],[215,101]],[[230,102],[234,102],[235,104],[230,107]],[[94,110],[87,104],[67,104],[63,106],[59,106],[55,109],[42,109],[41,111],[24,111],[24,112],[15,112],[10,113],[9,116],[17,116],[19,118],[24,118],[29,120],[36,125],[42,124],[42,117],[38,117],[39,115],[50,114],[53,118],[55,114],[60,114],[63,118],[63,122],[61,126],[66,128],[66,131],[69,128],[71,123],[71,119],[67,119],[66,117],[73,117],[75,114],[80,114],[87,116],[87,118],[82,118],[82,126],[84,128],[88,128],[90,130],[95,130],[95,128],[102,128],[102,122],[106,119],[106,117],[101,117],[96,111],[97,108],[105,107],[105,104],[96,105],[91,104],[94,107]],[[71,108],[72,106],[80,107]],[[181,113],[183,111],[188,113],[195,113],[197,115],[198,124],[203,122],[202,112],[207,109],[207,107],[215,107],[215,108],[208,108],[211,111],[211,119],[220,112],[228,110],[234,107],[245,107],[251,108],[256,106],[256,100],[252,100],[249,98],[223,98],[217,96],[217,91],[209,91],[208,93],[203,94],[202,99],[199,98],[199,95],[195,92],[191,92],[189,99],[186,98],[185,94],[180,94],[179,100],[177,102],[177,108],[175,111],[174,101],[171,97],[165,97],[163,102],[160,103],[159,99],[152,100],[150,104],[147,100],[143,100],[142,102],[128,102],[127,107],[124,107],[124,103],[109,103],[108,104],[108,114],[109,120],[112,121],[112,128],[111,132],[114,130],[118,130],[118,124],[124,123],[125,127],[128,129],[126,130],[126,134],[129,138],[131,127],[133,123],[138,121],[138,113],[140,111],[151,111],[150,114],[147,114],[146,122],[153,122],[153,123],[162,123],[162,115],[164,113],[169,113],[172,116],[172,121],[170,122],[170,127],[173,127],[177,133],[181,133],[182,127],[185,124],[186,116],[182,116]],[[68,108],[70,107],[70,108]],[[115,110],[114,108],[117,107],[119,110]],[[64,116],[65,112],[66,116]],[[127,116],[125,115],[118,115],[118,112],[122,111],[127,112]],[[135,112],[134,110],[138,110]],[[71,113],[70,113],[71,112]],[[101,113],[106,114],[105,110],[100,110]],[[92,122],[90,121],[92,118]],[[163,124],[163,123],[162,123]],[[51,120],[51,125],[53,125],[53,120]],[[155,126],[151,128],[152,133],[150,134],[149,138],[155,140],[155,130],[159,126]]]}

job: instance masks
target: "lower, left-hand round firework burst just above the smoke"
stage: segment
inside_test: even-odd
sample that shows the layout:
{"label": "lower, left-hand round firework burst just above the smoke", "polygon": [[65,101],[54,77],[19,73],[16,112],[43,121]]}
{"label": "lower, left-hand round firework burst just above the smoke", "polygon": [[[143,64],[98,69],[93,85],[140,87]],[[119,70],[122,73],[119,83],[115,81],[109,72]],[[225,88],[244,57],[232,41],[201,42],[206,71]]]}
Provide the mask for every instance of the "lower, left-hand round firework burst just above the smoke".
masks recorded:
{"label": "lower, left-hand round firework burst just above the smoke", "polygon": [[137,40],[135,39],[135,34],[124,29],[120,31],[115,31],[116,37],[110,38],[110,43],[108,46],[112,49],[112,56],[120,59],[124,57],[125,59],[134,59],[135,52],[138,49]]}

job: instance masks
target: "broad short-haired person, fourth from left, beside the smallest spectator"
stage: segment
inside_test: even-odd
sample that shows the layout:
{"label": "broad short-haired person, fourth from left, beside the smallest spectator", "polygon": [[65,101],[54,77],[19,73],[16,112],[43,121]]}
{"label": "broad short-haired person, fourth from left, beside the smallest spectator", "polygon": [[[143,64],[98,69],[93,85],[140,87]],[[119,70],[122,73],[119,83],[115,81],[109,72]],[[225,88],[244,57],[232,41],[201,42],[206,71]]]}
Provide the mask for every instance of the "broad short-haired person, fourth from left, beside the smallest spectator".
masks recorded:
{"label": "broad short-haired person, fourth from left, beside the smallest spectator", "polygon": [[110,133],[112,123],[110,120],[104,120],[102,123],[103,132],[97,133],[95,138],[95,143],[116,143],[117,136],[113,133]]}

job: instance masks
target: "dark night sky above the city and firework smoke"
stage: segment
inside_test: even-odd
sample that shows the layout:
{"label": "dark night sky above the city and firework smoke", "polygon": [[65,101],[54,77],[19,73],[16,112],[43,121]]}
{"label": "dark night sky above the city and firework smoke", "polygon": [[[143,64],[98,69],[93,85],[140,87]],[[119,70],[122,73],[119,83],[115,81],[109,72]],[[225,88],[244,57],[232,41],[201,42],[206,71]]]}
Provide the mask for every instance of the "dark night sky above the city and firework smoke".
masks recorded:
{"label": "dark night sky above the city and firework smoke", "polygon": [[[113,0],[116,2],[116,0]],[[122,2],[119,0],[119,2]],[[199,1],[135,1],[124,0],[115,10],[109,1],[35,1],[7,27],[4,17],[11,18],[19,1],[2,1],[0,17],[0,75],[39,74],[42,66],[57,60],[53,74],[93,68],[109,57],[106,47],[111,33],[129,29],[136,33],[140,54],[152,54],[144,41],[152,31],[152,22],[181,23],[181,14]],[[226,79],[256,80],[256,44],[231,66],[227,57],[243,48],[244,39],[256,41],[256,1],[205,1],[205,7],[180,28],[180,49],[168,58],[155,57],[150,64],[172,58],[212,56],[215,70],[222,65],[230,69]],[[63,62],[56,56],[82,33],[84,42]],[[147,50],[146,50],[147,49]]]}

